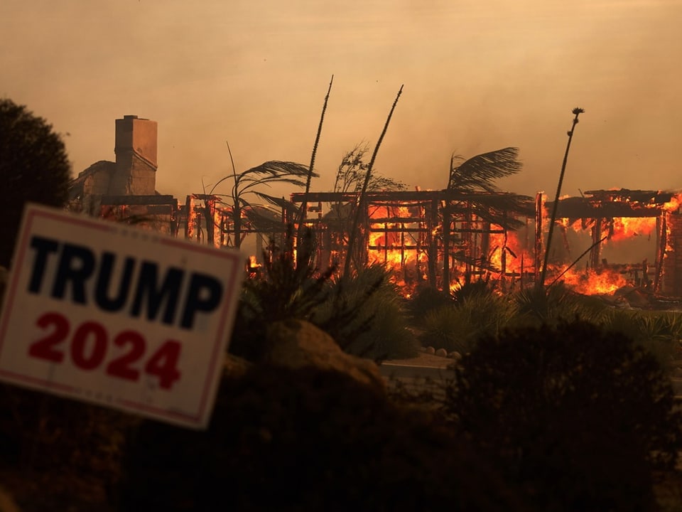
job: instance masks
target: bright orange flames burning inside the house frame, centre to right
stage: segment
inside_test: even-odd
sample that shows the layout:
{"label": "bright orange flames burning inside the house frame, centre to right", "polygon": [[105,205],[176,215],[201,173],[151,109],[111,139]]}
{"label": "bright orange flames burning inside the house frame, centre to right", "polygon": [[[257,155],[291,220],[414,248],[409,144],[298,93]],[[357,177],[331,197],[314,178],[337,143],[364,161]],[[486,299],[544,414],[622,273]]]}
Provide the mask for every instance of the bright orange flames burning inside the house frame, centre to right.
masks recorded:
{"label": "bright orange flames burning inside the house frame, centre to right", "polygon": [[[539,208],[546,208],[544,199],[543,194],[539,196]],[[597,199],[593,198],[592,206],[597,206],[595,201]],[[629,196],[618,194],[605,197],[603,201],[631,202]],[[651,206],[643,201],[632,203],[633,215],[647,215],[648,208],[657,208],[658,213],[669,212],[682,206],[682,194],[672,195],[662,207],[661,203],[653,200]],[[595,211],[598,210],[595,208]],[[428,279],[428,268],[433,268],[440,278],[440,275],[445,275],[445,265],[450,283],[443,283],[443,287],[451,291],[458,289],[466,279],[488,274],[492,279],[499,279],[503,283],[502,288],[507,290],[516,289],[519,283],[521,287],[528,286],[538,278],[539,270],[536,267],[541,265],[542,259],[538,254],[541,255],[544,243],[538,245],[533,225],[528,219],[525,230],[521,228],[518,232],[508,230],[505,233],[501,226],[485,223],[475,214],[453,218],[453,232],[448,239],[450,255],[446,264],[441,250],[441,244],[445,242],[443,226],[431,225],[431,231],[426,230],[431,220],[426,220],[424,212],[424,206],[417,202],[402,203],[401,206],[374,203],[369,210],[367,262],[385,265],[392,270],[394,282],[403,288],[406,296],[411,294],[416,283]],[[545,236],[548,232],[546,218],[543,216],[542,220]],[[608,249],[605,254],[609,260],[634,254],[638,250],[641,253],[646,251],[642,244],[634,251],[619,244],[635,238],[653,244],[654,239],[661,239],[669,231],[668,226],[661,224],[661,216],[656,214],[622,218],[558,218],[556,222],[559,230],[554,235],[555,250],[552,256],[556,258],[556,267],[549,265],[545,282],[551,283],[561,276],[559,279],[568,287],[583,294],[612,294],[627,285],[650,283],[651,279],[643,270],[649,255],[645,254],[639,259],[638,254],[637,262],[619,264],[607,261],[602,250]],[[600,230],[600,233],[594,233],[595,229]],[[605,240],[602,240],[601,245],[590,247],[590,244],[602,238]],[[666,245],[666,250],[661,255],[657,252],[656,258],[666,257],[671,250],[669,244]],[[438,247],[438,260],[429,262],[428,255],[434,254],[433,247]],[[582,252],[583,249],[585,252]],[[569,265],[575,267],[565,271]]]}

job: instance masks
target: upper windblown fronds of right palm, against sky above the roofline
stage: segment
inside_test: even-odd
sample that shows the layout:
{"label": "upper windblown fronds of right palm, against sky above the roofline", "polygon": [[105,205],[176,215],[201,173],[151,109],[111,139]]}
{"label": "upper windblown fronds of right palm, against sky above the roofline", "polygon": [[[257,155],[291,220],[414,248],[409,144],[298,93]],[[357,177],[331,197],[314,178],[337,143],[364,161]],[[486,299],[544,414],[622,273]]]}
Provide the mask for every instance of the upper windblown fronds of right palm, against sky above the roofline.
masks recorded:
{"label": "upper windblown fronds of right palm, against sky above the roofline", "polygon": [[473,156],[455,165],[462,161],[462,157],[453,155],[450,159],[448,189],[462,192],[497,192],[497,186],[492,183],[494,180],[521,171],[522,164],[518,156],[518,148],[507,147]]}

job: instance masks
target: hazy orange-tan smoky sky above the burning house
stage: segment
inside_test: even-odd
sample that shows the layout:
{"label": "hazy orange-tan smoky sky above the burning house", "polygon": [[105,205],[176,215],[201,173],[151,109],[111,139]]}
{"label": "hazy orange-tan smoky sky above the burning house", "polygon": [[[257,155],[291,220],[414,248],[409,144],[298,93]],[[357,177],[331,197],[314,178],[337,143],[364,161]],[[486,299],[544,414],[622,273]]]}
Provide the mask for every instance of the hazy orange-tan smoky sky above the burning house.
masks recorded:
{"label": "hazy orange-tan smoky sky above the burning house", "polygon": [[[342,154],[445,188],[453,152],[518,146],[499,183],[563,192],[682,188],[682,0],[2,0],[0,97],[68,133],[74,174],[114,160],[114,119],[158,122],[157,189],[184,198],[266,160]],[[227,190],[225,190],[227,191]],[[286,193],[294,191],[286,189]]]}

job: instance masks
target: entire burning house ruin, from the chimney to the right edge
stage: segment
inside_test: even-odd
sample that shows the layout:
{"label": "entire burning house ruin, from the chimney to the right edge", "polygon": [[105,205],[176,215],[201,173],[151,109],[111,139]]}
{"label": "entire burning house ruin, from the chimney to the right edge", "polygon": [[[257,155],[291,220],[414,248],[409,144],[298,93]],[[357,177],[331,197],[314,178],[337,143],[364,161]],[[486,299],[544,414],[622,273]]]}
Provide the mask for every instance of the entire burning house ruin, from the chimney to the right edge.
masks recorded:
{"label": "entire burning house ruin, from the chimney to the right edge", "polygon": [[[256,237],[264,248],[283,247],[303,193],[235,214],[219,196],[191,193],[184,204],[156,191],[156,122],[126,115],[116,120],[116,161],[98,161],[71,186],[73,210],[181,236],[215,247],[240,247]],[[562,198],[548,258],[546,284],[561,280],[583,293],[622,287],[682,297],[682,196],[664,191],[587,191]],[[315,235],[315,265],[342,268],[357,193],[311,192],[305,223]],[[454,289],[494,279],[504,291],[538,282],[553,209],[543,193],[382,191],[367,193],[360,215],[356,266],[394,270],[406,294],[419,284]],[[293,226],[296,233],[296,226]],[[647,242],[630,254],[627,243]],[[627,242],[626,242],[627,241]],[[619,245],[622,244],[622,245]],[[642,243],[640,243],[642,245]]]}

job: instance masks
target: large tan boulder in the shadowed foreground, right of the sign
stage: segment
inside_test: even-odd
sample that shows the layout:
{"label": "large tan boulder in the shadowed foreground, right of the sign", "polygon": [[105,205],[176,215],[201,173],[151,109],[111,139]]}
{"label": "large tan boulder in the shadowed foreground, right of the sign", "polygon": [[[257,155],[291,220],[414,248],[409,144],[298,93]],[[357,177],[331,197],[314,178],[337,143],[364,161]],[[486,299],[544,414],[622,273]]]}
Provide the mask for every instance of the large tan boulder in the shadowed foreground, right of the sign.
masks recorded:
{"label": "large tan boulder in the shadowed foreground, right of the sign", "polygon": [[385,389],[384,378],[374,361],[345,353],[329,334],[307,321],[275,322],[268,327],[266,336],[264,363],[337,370],[359,382]]}

